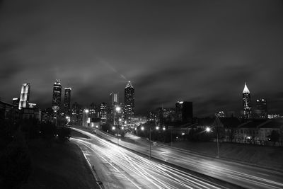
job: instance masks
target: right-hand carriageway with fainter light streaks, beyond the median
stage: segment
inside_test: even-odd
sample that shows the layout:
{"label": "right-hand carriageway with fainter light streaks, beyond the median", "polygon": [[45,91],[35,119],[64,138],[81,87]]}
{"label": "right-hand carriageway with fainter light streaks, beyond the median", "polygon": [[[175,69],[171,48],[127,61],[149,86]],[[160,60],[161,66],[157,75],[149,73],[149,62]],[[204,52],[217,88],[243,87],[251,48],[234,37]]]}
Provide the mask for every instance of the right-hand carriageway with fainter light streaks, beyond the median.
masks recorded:
{"label": "right-hand carriageway with fainter light streaks, beyond the median", "polygon": [[[96,132],[102,137],[117,143],[116,137],[99,130],[96,130]],[[149,154],[149,142],[144,139],[133,139],[132,142],[120,141],[119,143],[134,151]],[[159,145],[151,149],[151,156],[154,158],[240,185],[243,188],[283,188],[283,173],[279,171],[209,158]]]}

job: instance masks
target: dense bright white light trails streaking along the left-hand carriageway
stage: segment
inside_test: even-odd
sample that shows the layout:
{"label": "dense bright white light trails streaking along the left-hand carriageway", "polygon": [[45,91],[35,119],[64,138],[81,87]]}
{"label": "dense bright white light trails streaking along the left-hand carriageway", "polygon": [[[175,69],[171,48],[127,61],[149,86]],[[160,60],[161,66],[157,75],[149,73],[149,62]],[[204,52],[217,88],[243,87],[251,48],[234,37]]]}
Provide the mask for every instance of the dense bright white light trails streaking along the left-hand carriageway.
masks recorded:
{"label": "dense bright white light trails streaking along the left-hand carriageway", "polygon": [[223,188],[210,181],[192,176],[185,171],[150,161],[99,137],[88,136],[91,139],[73,138],[71,140],[79,144],[84,153],[88,152],[88,155],[86,155],[88,159],[93,158],[92,153],[90,153],[92,151],[109,164],[113,170],[132,183],[134,188]]}

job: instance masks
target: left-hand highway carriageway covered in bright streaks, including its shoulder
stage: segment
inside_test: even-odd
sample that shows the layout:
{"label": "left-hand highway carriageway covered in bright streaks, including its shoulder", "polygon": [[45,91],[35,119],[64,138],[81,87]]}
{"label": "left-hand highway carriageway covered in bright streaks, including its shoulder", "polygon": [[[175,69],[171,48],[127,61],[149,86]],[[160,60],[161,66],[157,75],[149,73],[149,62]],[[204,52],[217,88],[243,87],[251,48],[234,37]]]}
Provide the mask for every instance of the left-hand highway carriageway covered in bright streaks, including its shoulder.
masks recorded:
{"label": "left-hand highway carriageway covered in bright streaks, including its shoulder", "polygon": [[81,147],[104,188],[227,188],[139,156],[95,134],[79,132],[90,139],[72,137],[71,141]]}

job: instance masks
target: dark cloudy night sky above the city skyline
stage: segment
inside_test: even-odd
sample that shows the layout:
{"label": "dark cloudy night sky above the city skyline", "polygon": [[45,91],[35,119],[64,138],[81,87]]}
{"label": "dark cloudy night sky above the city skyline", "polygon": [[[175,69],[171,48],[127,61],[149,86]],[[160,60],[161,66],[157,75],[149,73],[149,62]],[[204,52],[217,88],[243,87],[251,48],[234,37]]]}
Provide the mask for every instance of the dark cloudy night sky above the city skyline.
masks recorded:
{"label": "dark cloudy night sky above the city skyline", "polygon": [[55,79],[71,101],[108,101],[128,80],[137,113],[192,101],[195,115],[267,98],[283,113],[282,1],[0,1],[0,98],[30,83],[51,106]]}

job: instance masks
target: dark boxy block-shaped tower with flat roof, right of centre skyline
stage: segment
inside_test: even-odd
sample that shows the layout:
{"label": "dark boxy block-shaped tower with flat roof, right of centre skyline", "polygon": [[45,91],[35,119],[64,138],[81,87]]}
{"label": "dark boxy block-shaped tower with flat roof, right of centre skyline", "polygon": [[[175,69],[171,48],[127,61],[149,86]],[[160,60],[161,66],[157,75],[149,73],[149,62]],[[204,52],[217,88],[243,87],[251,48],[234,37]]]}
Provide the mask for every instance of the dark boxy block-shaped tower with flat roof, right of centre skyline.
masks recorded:
{"label": "dark boxy block-shaped tower with flat roof, right of centre skyline", "polygon": [[192,122],[192,102],[178,101],[175,104],[175,120]]}

